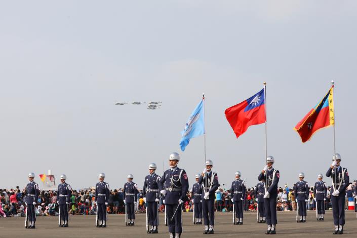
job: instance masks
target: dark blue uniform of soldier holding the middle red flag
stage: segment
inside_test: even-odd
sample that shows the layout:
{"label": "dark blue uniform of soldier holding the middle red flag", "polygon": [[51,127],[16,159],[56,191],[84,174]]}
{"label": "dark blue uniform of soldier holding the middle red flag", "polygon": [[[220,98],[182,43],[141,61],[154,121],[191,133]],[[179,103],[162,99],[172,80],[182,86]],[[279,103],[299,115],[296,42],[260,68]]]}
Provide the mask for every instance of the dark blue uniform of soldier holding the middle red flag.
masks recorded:
{"label": "dark blue uniform of soldier holding the middle red flag", "polygon": [[276,225],[276,197],[277,197],[277,184],[279,183],[280,173],[279,170],[271,168],[267,170],[264,174],[263,172],[259,174],[258,180],[264,180],[264,185],[269,192],[269,197],[264,199],[264,208],[266,223],[268,225]]}

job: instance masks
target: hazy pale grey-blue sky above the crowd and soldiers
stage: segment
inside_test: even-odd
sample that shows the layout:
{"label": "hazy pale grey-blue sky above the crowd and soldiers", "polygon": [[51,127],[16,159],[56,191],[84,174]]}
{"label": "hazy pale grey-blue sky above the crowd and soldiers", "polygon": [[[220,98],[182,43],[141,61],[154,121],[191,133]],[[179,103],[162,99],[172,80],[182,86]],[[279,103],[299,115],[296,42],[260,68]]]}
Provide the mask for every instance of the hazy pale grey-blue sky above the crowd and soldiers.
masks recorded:
{"label": "hazy pale grey-blue sky above the crowd and soldiers", "polygon": [[[224,110],[267,82],[268,154],[292,186],[331,164],[333,129],[301,143],[293,130],[335,83],[336,152],[357,178],[357,1],[1,1],[0,187],[29,172],[64,173],[73,188],[142,187],[171,152],[190,187],[204,137],[180,151],[180,131],[206,94],[207,158],[225,188],[265,164],[264,124],[239,139]],[[114,101],[162,101],[116,106]],[[324,178],[329,184],[331,179]],[[40,183],[41,184],[41,183]],[[228,185],[229,184],[229,185]]]}

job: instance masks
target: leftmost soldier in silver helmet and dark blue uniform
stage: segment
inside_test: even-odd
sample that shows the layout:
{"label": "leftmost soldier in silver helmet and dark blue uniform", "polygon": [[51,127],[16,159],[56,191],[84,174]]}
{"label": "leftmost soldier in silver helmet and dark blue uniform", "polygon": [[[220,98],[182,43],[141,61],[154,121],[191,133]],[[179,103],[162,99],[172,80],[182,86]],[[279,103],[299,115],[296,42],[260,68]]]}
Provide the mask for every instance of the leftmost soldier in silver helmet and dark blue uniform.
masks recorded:
{"label": "leftmost soldier in silver helmet and dark blue uniform", "polygon": [[[35,221],[36,221],[36,214],[35,214],[35,206],[36,206],[36,201],[38,199],[38,194],[39,194],[39,189],[38,189],[38,184],[33,181],[33,178],[35,177],[34,173],[29,173],[28,174],[28,180],[30,181],[26,185],[26,224],[25,228],[29,229],[34,229],[35,228]],[[30,224],[28,224],[28,221]]]}

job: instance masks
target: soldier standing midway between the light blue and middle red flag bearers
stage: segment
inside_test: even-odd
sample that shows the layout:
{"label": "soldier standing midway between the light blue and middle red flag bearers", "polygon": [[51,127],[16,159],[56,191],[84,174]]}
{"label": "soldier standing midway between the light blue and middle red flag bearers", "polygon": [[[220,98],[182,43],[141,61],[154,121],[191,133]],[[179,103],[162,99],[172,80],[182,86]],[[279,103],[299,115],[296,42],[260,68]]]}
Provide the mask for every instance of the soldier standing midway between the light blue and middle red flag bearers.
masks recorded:
{"label": "soldier standing midway between the light blue and middle red flag bearers", "polygon": [[235,172],[235,180],[232,182],[230,191],[232,193],[232,202],[234,203],[234,213],[237,221],[236,225],[243,224],[243,201],[246,195],[246,182],[241,179],[241,172]]}

